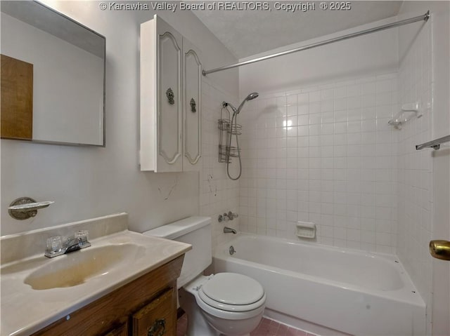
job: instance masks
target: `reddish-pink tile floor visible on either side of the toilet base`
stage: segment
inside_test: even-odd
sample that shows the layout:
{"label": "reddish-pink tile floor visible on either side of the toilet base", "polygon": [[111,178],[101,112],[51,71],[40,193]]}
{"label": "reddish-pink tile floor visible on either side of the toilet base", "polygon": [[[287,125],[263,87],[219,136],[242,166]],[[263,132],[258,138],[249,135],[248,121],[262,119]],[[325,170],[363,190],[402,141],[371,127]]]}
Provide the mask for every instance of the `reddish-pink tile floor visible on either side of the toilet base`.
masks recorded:
{"label": "reddish-pink tile floor visible on either side of the toilet base", "polygon": [[[186,327],[188,325],[188,318],[186,314],[178,319],[176,325],[176,336],[184,336],[186,332]],[[198,335],[200,336],[200,335]],[[302,330],[289,327],[278,323],[276,321],[269,320],[269,318],[262,318],[261,323],[257,328],[250,334],[250,336],[315,336],[309,332],[304,332]]]}

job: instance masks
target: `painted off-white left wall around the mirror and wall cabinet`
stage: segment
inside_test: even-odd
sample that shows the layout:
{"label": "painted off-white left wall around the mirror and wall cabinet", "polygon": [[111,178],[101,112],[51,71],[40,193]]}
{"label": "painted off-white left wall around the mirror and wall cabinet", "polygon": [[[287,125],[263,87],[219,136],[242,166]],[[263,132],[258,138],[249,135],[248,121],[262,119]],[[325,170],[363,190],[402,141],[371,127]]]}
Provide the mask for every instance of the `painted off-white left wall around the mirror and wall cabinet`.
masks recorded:
{"label": "painted off-white left wall around the mirror and wall cabinet", "polygon": [[[154,12],[101,11],[97,1],[46,3],[106,37],[106,147],[1,140],[1,234],[120,211],[129,213],[130,228],[136,231],[198,215],[199,173],[143,173],[138,168],[139,25]],[[193,13],[158,14],[200,48],[206,69],[236,62]],[[237,96],[237,74],[226,72],[209,80]],[[214,94],[208,99],[219,101]],[[204,113],[205,118],[212,112]],[[56,203],[39,210],[34,219],[13,220],[7,208],[20,196]]]}

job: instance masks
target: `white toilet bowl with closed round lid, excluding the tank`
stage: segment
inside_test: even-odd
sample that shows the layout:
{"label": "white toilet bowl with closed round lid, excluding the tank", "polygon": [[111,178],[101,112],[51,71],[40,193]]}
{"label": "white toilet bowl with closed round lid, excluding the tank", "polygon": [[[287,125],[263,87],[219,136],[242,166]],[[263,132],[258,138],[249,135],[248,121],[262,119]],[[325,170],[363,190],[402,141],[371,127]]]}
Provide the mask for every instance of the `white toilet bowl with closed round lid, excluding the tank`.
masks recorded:
{"label": "white toilet bowl with closed round lid, excluding the tank", "polygon": [[255,330],[266,302],[262,285],[235,273],[198,276],[179,294],[188,315],[186,336],[241,336]]}

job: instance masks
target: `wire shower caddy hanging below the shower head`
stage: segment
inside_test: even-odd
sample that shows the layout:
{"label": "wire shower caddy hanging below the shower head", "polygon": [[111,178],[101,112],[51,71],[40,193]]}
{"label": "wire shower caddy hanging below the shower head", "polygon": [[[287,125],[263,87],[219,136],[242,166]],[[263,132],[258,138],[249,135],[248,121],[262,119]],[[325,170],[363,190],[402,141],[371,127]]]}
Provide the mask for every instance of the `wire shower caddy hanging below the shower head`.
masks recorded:
{"label": "wire shower caddy hanging below the shower head", "polygon": [[[224,112],[226,111],[226,113]],[[238,123],[231,123],[230,112],[226,108],[226,104],[222,105],[220,111],[220,119],[217,121],[217,128],[220,130],[219,134],[219,162],[231,163],[231,158],[239,157],[240,148],[231,146],[231,136],[241,135],[242,126]]]}

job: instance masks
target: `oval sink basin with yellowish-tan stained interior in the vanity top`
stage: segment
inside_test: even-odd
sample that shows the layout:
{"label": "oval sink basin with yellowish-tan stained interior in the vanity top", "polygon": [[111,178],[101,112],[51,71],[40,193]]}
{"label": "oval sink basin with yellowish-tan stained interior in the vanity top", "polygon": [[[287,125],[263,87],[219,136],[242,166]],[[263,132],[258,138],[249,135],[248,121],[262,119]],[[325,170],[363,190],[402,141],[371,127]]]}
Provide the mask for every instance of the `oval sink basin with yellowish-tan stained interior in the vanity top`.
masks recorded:
{"label": "oval sink basin with yellowish-tan stained interior in the vanity top", "polygon": [[29,274],[24,283],[34,290],[81,285],[91,278],[126,267],[143,255],[143,250],[142,246],[133,243],[85,248],[49,260]]}

